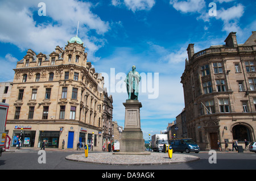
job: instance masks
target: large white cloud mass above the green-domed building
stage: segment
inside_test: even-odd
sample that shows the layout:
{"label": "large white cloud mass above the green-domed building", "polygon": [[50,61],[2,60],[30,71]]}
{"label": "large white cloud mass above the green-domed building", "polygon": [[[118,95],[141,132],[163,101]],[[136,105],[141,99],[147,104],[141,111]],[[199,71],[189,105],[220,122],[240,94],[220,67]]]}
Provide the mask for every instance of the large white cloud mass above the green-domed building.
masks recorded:
{"label": "large white cloud mass above the green-domed building", "polygon": [[[101,36],[110,30],[110,26],[90,11],[92,3],[45,0],[46,16],[38,16],[39,2],[1,1],[0,24],[5,26],[1,27],[0,41],[14,44],[21,50],[31,48],[38,53],[51,53],[56,45],[64,47],[76,35],[79,21],[79,37],[90,55],[89,61],[98,60],[94,53],[105,44],[106,40]],[[36,20],[44,23],[36,23]],[[89,35],[90,30],[95,30],[97,37]]]}

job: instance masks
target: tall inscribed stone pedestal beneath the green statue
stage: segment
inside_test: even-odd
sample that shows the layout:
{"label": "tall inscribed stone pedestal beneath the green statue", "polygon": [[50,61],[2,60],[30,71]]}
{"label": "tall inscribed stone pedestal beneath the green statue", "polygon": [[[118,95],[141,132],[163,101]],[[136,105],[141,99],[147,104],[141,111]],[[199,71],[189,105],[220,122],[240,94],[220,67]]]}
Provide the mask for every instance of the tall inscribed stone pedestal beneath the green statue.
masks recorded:
{"label": "tall inscribed stone pedestal beneath the green statue", "polygon": [[142,104],[138,100],[126,100],[123,106],[125,106],[125,128],[120,140],[119,154],[150,154],[150,152],[144,151],[145,146],[139,111]]}

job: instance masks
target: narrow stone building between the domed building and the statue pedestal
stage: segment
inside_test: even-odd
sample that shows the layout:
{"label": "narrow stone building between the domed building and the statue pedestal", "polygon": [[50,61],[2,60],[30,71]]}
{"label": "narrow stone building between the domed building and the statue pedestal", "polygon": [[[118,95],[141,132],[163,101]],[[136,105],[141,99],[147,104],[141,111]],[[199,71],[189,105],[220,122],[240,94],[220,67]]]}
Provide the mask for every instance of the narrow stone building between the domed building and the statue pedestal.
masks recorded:
{"label": "narrow stone building between the domed building and the statue pedestal", "polygon": [[112,95],[108,96],[106,88],[104,89],[104,104],[103,104],[103,145],[107,148],[109,143],[113,141],[113,98]]}

